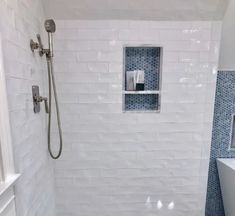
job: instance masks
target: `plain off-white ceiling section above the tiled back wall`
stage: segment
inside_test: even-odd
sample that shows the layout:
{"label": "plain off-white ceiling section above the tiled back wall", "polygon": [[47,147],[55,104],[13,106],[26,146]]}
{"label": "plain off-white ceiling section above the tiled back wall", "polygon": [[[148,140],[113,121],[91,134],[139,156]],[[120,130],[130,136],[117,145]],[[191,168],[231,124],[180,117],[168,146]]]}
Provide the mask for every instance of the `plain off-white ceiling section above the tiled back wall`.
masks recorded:
{"label": "plain off-white ceiling section above the tiled back wall", "polygon": [[220,20],[230,0],[44,0],[56,19]]}

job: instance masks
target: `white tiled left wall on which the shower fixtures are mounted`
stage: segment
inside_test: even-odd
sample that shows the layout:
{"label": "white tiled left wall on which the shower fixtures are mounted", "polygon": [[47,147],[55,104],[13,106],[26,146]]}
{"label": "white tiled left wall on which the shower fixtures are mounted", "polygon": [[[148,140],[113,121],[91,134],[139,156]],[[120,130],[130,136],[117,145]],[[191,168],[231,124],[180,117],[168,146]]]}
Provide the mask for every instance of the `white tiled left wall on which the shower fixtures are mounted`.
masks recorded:
{"label": "white tiled left wall on which the shower fixtures are mounted", "polygon": [[[47,152],[45,112],[35,115],[32,85],[45,94],[46,61],[31,53],[30,39],[46,36],[40,0],[1,0],[0,34],[4,41],[5,71],[16,172],[19,216],[55,216],[54,170]],[[45,43],[46,37],[43,37]]]}

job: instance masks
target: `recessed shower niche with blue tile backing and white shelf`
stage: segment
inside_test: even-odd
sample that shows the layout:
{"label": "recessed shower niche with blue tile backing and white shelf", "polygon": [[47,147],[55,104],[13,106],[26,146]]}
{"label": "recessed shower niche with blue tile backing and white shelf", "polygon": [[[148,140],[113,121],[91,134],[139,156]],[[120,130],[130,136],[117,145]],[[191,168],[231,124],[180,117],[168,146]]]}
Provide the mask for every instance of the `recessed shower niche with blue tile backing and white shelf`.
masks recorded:
{"label": "recessed shower niche with blue tile backing and white shelf", "polygon": [[124,112],[160,112],[161,65],[162,47],[124,47]]}

